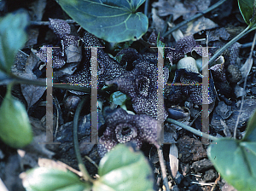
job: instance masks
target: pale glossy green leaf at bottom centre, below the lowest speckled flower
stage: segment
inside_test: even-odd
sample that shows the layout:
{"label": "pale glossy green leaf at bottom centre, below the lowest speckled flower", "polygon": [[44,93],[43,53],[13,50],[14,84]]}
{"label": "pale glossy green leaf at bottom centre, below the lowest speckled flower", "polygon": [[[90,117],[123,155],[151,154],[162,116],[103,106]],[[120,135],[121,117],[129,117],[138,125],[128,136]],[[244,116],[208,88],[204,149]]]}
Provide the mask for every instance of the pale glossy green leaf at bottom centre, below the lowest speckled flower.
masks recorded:
{"label": "pale glossy green leaf at bottom centre, below the lowest speckled flower", "polygon": [[154,190],[153,172],[143,153],[119,144],[101,160],[96,191]]}

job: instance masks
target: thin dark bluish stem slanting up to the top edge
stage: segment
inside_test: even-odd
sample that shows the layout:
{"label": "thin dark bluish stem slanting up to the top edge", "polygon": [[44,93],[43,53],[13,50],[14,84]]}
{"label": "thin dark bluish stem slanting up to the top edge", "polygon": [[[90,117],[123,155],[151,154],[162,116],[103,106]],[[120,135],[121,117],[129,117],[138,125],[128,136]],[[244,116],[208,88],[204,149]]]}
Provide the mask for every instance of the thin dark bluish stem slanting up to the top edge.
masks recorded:
{"label": "thin dark bluish stem slanting up to the top edge", "polygon": [[188,22],[190,22],[191,20],[195,20],[199,17],[201,17],[203,14],[207,14],[208,12],[212,11],[213,9],[216,9],[218,8],[219,5],[221,5],[222,3],[224,3],[226,0],[221,0],[219,1],[218,3],[215,3],[212,5],[212,7],[202,11],[201,13],[199,14],[195,14],[194,16],[192,16],[189,20],[184,20],[183,22],[177,24],[177,26],[174,26],[170,31],[166,32],[164,35],[163,35],[163,38],[165,38],[167,35],[171,34],[172,32],[176,31],[178,28],[180,28],[181,26],[183,25],[186,25]]}

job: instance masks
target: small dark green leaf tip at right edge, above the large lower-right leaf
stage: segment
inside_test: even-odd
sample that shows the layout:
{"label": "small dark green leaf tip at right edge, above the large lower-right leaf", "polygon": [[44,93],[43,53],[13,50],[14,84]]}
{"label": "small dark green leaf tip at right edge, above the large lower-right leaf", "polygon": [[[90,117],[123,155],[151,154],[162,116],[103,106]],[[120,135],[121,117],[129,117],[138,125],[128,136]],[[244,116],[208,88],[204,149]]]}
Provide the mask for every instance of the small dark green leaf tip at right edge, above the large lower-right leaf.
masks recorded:
{"label": "small dark green leaf tip at right edge, above the large lower-right leaf", "polygon": [[248,120],[247,123],[247,132],[243,137],[245,142],[256,142],[256,110],[253,113],[253,116]]}

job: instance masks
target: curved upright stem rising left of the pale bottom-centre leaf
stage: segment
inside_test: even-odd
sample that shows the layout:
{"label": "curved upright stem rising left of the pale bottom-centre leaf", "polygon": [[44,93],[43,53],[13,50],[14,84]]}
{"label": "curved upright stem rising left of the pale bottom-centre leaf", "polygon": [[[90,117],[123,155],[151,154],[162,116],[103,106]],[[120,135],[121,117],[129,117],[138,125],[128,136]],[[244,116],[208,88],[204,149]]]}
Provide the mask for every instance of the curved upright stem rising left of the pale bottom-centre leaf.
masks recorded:
{"label": "curved upright stem rising left of the pale bottom-centre leaf", "polygon": [[86,170],[84,163],[83,163],[83,159],[81,157],[81,153],[79,150],[79,139],[78,139],[79,114],[82,110],[82,107],[84,106],[84,102],[87,101],[87,98],[88,98],[88,96],[85,96],[82,99],[82,101],[79,102],[79,106],[77,107],[76,113],[73,118],[73,147],[74,147],[74,151],[76,153],[76,157],[79,162],[79,170],[82,171],[84,180],[92,182],[92,179],[91,179],[88,171]]}

